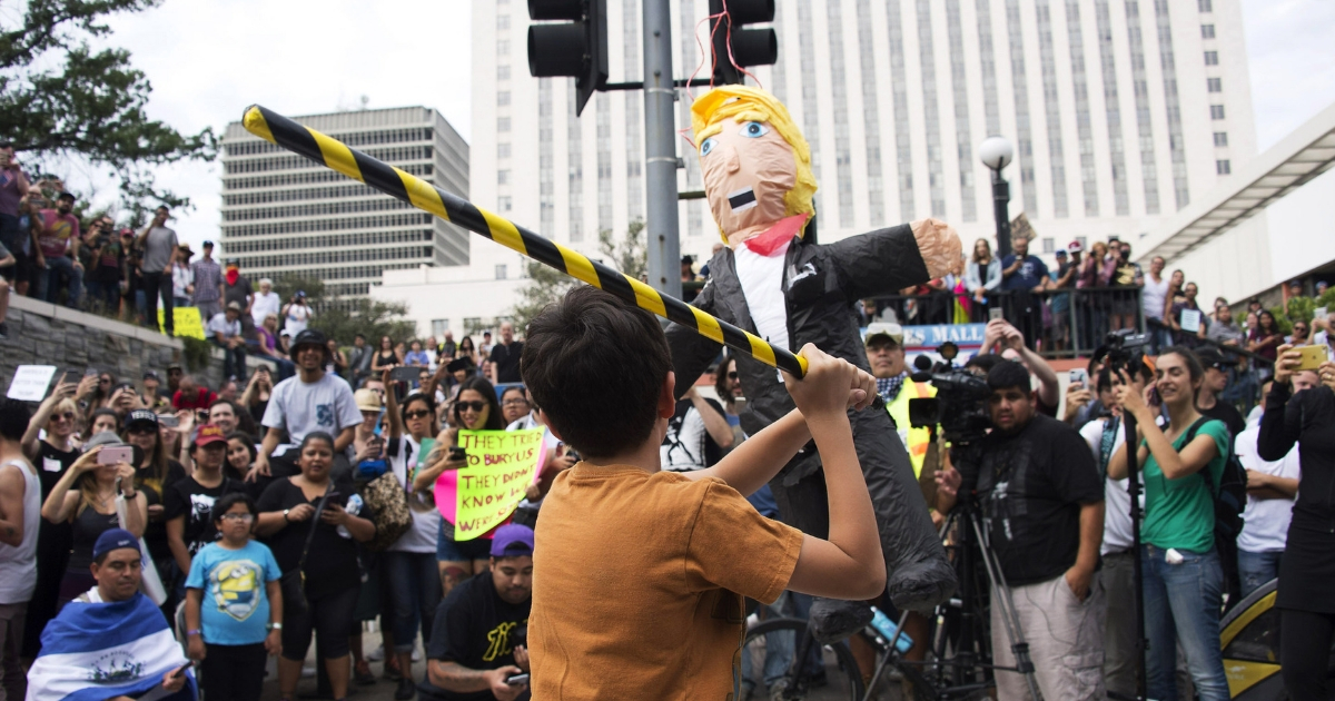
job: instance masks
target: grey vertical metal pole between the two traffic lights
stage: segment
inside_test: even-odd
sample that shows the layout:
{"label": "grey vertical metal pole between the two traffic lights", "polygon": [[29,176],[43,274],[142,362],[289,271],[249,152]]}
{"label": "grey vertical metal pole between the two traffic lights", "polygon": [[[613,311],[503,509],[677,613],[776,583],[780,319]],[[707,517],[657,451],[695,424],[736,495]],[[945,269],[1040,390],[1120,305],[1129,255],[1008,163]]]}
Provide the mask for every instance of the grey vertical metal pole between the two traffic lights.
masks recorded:
{"label": "grey vertical metal pole between the two traffic lights", "polygon": [[668,0],[645,0],[645,175],[649,286],[681,298],[681,242],[677,228],[677,143],[672,77],[672,9]]}

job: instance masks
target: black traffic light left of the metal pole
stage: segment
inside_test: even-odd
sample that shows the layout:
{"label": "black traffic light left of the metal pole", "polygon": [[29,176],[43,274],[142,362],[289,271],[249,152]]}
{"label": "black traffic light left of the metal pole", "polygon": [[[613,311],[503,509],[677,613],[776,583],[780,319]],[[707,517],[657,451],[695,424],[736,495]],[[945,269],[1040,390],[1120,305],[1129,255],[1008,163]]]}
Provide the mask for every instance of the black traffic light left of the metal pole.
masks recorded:
{"label": "black traffic light left of the metal pole", "polygon": [[543,23],[529,27],[529,73],[574,77],[575,115],[583,112],[607,84],[607,0],[529,0],[529,19]]}

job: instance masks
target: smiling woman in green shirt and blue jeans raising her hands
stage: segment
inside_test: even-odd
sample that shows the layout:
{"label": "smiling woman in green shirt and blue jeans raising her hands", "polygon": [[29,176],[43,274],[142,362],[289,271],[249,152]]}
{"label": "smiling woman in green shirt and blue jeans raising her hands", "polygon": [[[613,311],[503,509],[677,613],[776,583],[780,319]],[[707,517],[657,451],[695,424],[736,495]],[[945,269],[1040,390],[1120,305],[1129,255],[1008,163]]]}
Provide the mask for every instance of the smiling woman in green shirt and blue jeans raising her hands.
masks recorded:
{"label": "smiling woman in green shirt and blue jeans raising her hands", "polygon": [[[1212,494],[1224,470],[1230,434],[1223,422],[1204,419],[1196,411],[1204,370],[1193,353],[1177,346],[1164,348],[1155,365],[1155,381],[1148,387],[1123,374],[1124,385],[1117,389],[1123,411],[1136,418],[1136,463],[1144,466],[1141,579],[1145,634],[1149,648],[1157,650],[1145,662],[1145,681],[1149,697],[1176,700],[1176,656],[1161,650],[1181,645],[1196,696],[1224,701],[1228,680],[1219,648],[1224,575],[1215,550]],[[1151,406],[1155,394],[1168,409],[1168,426],[1163,429],[1156,423],[1159,407]],[[1108,477],[1127,477],[1125,446],[1108,461]]]}

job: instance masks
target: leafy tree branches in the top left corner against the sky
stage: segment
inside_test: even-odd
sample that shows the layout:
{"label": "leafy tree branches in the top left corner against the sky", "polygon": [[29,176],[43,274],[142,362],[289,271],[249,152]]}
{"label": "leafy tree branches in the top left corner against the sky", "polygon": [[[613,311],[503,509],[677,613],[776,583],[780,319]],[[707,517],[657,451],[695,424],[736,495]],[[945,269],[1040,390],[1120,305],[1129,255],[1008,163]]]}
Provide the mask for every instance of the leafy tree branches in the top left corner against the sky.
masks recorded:
{"label": "leafy tree branches in the top left corner against the sky", "polygon": [[23,154],[29,174],[47,163],[81,158],[105,166],[119,182],[120,206],[131,224],[158,204],[190,207],[190,198],[156,186],[152,167],[212,160],[211,128],[182,135],[148,119],[152,93],[143,71],[120,48],[92,49],[89,39],[111,33],[107,16],[143,12],[162,0],[28,0],[21,20],[0,13],[0,135]]}

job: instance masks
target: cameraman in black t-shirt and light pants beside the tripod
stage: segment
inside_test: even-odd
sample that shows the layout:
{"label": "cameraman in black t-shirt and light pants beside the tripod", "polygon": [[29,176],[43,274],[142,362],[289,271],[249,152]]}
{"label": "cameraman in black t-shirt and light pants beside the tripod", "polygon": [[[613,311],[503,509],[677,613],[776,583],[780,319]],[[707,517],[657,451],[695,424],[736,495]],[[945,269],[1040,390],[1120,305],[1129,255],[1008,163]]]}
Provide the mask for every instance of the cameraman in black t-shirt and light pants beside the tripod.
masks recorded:
{"label": "cameraman in black t-shirt and light pants beside the tripod", "polygon": [[[975,494],[988,543],[1012,589],[1044,698],[1103,698],[1103,479],[1075,429],[1035,411],[1029,373],[1001,361],[988,371],[992,433],[979,458],[956,451],[959,494]],[[955,499],[943,495],[943,511]],[[993,593],[993,601],[997,601]],[[1028,696],[1000,608],[992,608],[997,697]],[[1096,680],[1096,682],[1091,682]]]}

